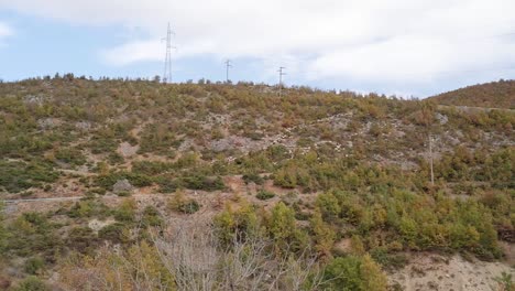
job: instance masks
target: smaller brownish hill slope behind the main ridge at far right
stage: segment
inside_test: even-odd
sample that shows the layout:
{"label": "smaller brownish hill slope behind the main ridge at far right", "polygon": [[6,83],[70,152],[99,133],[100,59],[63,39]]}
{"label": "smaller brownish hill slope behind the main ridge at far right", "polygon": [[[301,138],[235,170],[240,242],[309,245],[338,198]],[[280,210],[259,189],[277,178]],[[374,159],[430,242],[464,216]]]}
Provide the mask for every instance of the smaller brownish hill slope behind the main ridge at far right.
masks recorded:
{"label": "smaller brownish hill slope behind the main ridge at far right", "polygon": [[515,80],[498,80],[431,97],[441,105],[515,109]]}

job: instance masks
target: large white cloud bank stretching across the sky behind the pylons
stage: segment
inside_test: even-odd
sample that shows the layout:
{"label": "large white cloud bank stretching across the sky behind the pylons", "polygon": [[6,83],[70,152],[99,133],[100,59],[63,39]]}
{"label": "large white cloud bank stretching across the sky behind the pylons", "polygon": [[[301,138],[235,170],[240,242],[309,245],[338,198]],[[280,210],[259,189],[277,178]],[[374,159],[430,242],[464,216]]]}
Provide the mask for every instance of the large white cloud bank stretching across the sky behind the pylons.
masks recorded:
{"label": "large white cloud bank stretching across the sky behind the pylons", "polygon": [[[102,52],[111,64],[175,57],[283,63],[307,79],[418,84],[515,65],[513,0],[0,0],[0,9],[86,25],[141,28],[146,39]],[[1,26],[0,26],[1,35]],[[309,73],[302,73],[309,72]]]}

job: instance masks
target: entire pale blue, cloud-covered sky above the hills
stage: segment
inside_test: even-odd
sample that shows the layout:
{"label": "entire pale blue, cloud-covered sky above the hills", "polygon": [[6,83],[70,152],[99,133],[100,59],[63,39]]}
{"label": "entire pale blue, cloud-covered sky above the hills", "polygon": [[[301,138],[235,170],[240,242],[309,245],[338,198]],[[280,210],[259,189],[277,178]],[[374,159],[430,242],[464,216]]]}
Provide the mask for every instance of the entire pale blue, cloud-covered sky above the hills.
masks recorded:
{"label": "entire pale blue, cloud-covered sky above the hills", "polygon": [[163,74],[425,97],[515,78],[514,0],[0,0],[0,78]]}

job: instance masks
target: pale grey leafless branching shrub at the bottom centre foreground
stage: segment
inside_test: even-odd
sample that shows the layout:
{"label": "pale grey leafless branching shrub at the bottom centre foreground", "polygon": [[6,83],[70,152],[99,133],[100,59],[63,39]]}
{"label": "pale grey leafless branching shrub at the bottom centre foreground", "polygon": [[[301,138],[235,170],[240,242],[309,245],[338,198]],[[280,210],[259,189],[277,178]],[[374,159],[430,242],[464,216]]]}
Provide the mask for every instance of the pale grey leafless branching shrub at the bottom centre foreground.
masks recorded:
{"label": "pale grey leafless branching shrub at the bottom centre foreground", "polygon": [[[264,236],[235,234],[221,246],[210,219],[177,224],[154,242],[178,290],[317,290],[322,272],[310,249],[277,258]],[[287,251],[285,254],[288,254]]]}

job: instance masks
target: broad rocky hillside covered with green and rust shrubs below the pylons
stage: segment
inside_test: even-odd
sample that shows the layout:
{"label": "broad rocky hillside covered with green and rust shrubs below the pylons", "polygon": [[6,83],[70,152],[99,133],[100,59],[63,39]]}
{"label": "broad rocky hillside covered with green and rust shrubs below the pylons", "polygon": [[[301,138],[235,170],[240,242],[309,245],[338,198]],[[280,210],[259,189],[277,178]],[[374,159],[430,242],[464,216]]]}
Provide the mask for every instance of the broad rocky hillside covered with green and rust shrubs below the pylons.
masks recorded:
{"label": "broad rocky hillside covered with green and rust shrubs below the pylons", "polygon": [[515,263],[515,114],[439,98],[2,83],[0,290],[386,290],[424,252],[503,261],[496,285]]}

